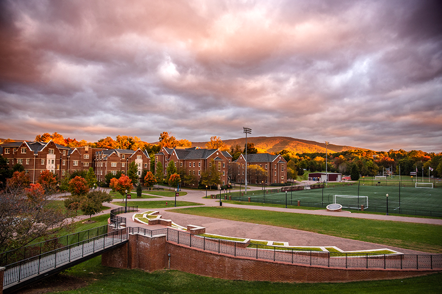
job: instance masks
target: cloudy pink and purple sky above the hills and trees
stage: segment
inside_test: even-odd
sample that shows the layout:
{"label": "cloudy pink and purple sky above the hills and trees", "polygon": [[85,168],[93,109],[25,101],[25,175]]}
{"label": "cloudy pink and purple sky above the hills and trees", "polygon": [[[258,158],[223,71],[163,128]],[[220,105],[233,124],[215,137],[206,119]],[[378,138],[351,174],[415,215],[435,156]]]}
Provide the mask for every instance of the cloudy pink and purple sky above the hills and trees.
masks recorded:
{"label": "cloudy pink and purple sky above the hills and trees", "polygon": [[0,137],[442,152],[442,1],[2,0]]}

